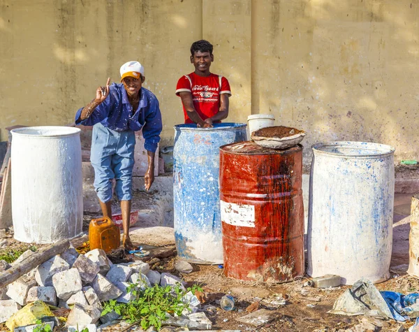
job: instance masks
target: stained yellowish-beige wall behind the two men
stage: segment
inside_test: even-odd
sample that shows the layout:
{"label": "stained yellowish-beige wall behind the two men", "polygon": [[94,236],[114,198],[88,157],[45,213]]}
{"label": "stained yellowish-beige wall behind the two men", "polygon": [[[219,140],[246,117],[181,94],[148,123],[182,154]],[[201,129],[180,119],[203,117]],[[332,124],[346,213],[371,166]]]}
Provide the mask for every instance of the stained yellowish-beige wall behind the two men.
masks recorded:
{"label": "stained yellowish-beige wall behind the two men", "polygon": [[228,120],[271,113],[321,140],[367,140],[419,158],[418,0],[0,0],[0,130],[72,122],[119,66],[138,59],[163,112],[183,120],[189,47],[214,44]]}

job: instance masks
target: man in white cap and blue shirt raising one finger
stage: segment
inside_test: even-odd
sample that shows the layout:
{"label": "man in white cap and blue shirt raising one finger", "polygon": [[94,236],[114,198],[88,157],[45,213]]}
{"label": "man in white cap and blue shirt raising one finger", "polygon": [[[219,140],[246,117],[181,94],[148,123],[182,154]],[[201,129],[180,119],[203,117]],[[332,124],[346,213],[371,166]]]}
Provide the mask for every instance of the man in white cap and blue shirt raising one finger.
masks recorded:
{"label": "man in white cap and blue shirt raising one finger", "polygon": [[120,69],[120,84],[110,78],[105,87],[96,89],[96,98],[75,115],[75,123],[94,126],[91,137],[91,165],[94,167],[94,187],[104,217],[112,217],[112,179],[121,201],[124,226],[123,244],[126,250],[135,250],[129,237],[129,218],[132,199],[132,172],[134,166],[134,131],[142,129],[147,150],[148,168],[145,190],[154,181],[154,153],[162,129],[159,101],[142,87],[144,67],[130,61]]}

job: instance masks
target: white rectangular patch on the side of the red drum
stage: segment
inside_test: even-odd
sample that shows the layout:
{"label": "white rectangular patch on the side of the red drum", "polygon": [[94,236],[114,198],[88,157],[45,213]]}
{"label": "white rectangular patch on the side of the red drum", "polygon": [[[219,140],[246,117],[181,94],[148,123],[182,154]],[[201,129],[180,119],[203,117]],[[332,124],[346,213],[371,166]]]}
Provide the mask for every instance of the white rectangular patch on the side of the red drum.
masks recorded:
{"label": "white rectangular patch on the side of the red drum", "polygon": [[220,201],[221,221],[232,226],[255,227],[254,205]]}

